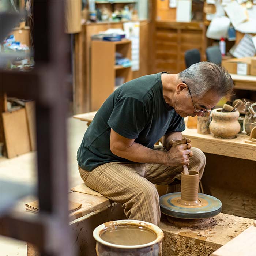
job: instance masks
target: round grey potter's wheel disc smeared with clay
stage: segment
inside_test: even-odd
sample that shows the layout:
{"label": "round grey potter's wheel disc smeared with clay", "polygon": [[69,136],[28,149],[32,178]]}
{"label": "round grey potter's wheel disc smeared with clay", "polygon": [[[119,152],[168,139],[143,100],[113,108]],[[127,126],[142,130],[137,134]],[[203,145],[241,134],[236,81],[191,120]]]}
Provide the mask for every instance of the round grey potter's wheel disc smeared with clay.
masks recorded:
{"label": "round grey potter's wheel disc smeared with clay", "polygon": [[219,199],[198,193],[200,204],[186,206],[179,203],[181,192],[169,193],[160,197],[160,208],[164,214],[182,219],[202,219],[213,217],[221,212],[222,203]]}

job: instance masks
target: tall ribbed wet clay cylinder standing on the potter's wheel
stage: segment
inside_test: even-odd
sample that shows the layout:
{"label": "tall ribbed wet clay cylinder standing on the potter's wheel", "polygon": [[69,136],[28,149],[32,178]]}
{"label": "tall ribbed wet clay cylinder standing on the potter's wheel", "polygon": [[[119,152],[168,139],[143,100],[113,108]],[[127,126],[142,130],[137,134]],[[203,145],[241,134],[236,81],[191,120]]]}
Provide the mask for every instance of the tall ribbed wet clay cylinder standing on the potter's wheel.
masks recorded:
{"label": "tall ribbed wet clay cylinder standing on the potter's wheel", "polygon": [[198,199],[199,172],[189,170],[189,175],[181,173],[181,199],[178,203],[195,206],[201,203]]}

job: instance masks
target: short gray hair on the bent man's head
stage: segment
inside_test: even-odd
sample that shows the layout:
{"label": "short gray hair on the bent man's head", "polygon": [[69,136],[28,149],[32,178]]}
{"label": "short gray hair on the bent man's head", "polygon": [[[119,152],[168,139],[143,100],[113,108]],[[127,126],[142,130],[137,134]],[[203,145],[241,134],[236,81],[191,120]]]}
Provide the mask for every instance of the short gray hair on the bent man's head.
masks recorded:
{"label": "short gray hair on the bent man's head", "polygon": [[188,85],[191,94],[198,98],[202,98],[210,90],[221,97],[233,93],[233,79],[230,74],[224,67],[212,62],[193,64],[178,75]]}

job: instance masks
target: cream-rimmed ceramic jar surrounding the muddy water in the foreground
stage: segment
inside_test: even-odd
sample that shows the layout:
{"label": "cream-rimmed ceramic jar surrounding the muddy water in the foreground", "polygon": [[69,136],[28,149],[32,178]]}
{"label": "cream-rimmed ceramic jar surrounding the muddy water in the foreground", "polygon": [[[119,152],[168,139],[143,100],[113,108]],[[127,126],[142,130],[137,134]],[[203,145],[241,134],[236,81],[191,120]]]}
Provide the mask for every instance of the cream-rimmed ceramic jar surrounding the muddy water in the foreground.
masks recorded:
{"label": "cream-rimmed ceramic jar surrounding the muddy water in the foreground", "polygon": [[[140,245],[118,245],[106,242],[101,238],[101,235],[109,229],[116,229],[120,226],[136,226],[144,229],[148,229],[156,234],[156,239],[147,244]],[[161,256],[162,255],[162,239],[163,231],[156,225],[145,222],[136,221],[132,219],[110,221],[103,223],[96,227],[93,231],[93,237],[97,241],[96,253],[97,256]],[[135,238],[136,239],[136,238]]]}

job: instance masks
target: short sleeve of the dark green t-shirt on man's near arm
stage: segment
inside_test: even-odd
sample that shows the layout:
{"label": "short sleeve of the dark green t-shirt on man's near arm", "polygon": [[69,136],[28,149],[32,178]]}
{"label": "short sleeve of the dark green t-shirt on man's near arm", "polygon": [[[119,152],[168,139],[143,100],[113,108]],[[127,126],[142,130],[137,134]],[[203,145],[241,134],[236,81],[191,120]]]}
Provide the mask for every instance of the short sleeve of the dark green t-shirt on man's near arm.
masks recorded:
{"label": "short sleeve of the dark green t-shirt on man's near arm", "polygon": [[109,117],[108,125],[128,139],[136,139],[144,129],[147,111],[143,102],[132,97],[119,99]]}

